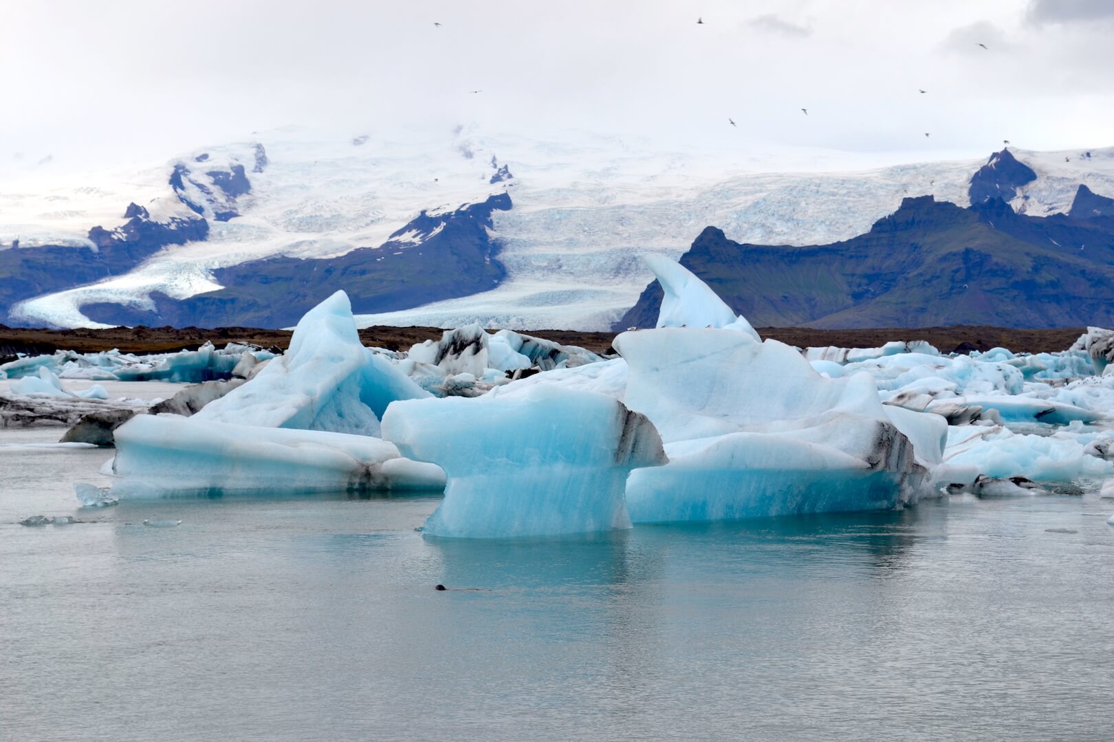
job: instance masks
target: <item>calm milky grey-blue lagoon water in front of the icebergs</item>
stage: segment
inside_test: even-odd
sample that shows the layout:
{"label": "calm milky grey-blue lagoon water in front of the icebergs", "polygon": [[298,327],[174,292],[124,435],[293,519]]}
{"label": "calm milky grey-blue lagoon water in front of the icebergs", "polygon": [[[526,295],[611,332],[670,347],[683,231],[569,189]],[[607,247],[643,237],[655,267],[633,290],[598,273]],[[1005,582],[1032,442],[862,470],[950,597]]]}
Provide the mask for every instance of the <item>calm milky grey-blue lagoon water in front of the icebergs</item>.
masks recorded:
{"label": "calm milky grey-blue lagoon water in front of the icebergs", "polygon": [[434,496],[76,507],[106,457],[0,445],[0,740],[1114,735],[1094,493],[490,543]]}

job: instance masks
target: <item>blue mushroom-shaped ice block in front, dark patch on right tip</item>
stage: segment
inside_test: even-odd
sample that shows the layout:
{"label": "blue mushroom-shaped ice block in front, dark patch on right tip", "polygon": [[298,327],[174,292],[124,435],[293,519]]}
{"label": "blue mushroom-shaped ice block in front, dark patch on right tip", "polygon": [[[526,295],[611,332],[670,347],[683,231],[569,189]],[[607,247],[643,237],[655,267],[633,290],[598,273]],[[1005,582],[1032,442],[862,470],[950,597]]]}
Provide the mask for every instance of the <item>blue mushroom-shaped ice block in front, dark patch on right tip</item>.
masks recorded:
{"label": "blue mushroom-shaped ice block in front, dark patch on right tip", "polygon": [[424,533],[497,538],[631,527],[627,474],[665,462],[654,426],[603,394],[512,387],[387,410],[383,435],[448,477]]}

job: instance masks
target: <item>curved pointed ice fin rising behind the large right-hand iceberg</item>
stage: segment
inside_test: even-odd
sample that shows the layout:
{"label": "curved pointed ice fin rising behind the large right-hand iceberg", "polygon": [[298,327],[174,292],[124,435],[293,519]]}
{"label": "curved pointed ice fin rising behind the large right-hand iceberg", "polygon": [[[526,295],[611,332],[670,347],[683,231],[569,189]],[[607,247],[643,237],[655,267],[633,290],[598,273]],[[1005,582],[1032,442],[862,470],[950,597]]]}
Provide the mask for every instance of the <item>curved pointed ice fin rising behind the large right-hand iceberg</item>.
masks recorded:
{"label": "curved pointed ice fin rising behind the large right-hand iceberg", "polygon": [[707,284],[680,263],[663,255],[647,255],[645,260],[664,291],[658,327],[720,327],[762,342],[744,317],[736,316]]}

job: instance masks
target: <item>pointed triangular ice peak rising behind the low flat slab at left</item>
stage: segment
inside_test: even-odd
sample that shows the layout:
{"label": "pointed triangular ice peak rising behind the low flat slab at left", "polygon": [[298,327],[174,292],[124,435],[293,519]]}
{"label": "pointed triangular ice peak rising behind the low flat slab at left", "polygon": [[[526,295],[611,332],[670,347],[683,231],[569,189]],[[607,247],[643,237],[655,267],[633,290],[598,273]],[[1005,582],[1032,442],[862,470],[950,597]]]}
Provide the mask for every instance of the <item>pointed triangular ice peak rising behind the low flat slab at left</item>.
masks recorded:
{"label": "pointed triangular ice peak rising behind the low flat slab at left", "polygon": [[391,402],[427,396],[390,359],[363,347],[348,295],[336,291],[302,317],[283,356],[194,418],[379,435]]}

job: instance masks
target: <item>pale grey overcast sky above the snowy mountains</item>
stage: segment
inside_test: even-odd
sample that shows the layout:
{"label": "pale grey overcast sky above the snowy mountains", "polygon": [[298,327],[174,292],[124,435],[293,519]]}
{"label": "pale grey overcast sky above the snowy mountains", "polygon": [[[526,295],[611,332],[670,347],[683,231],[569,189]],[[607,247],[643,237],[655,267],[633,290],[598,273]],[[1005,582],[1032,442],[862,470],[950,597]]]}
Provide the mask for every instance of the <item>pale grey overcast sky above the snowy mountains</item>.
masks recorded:
{"label": "pale grey overcast sky above the snowy mountains", "polygon": [[0,0],[0,162],[9,164],[162,161],[284,125],[405,136],[461,121],[540,137],[577,128],[663,146],[921,159],[987,154],[1003,139],[1114,145],[1114,0]]}

